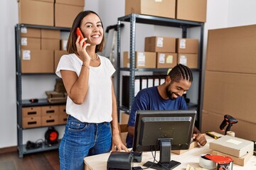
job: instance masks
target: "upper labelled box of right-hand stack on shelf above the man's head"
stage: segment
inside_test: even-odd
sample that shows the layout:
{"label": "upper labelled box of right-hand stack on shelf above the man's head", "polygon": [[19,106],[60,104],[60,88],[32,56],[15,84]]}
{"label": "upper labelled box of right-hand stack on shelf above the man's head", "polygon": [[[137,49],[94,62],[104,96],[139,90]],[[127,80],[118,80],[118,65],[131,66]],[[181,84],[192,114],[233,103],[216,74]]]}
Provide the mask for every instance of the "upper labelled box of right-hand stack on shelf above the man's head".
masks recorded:
{"label": "upper labelled box of right-hand stack on shelf above the man's head", "polygon": [[198,54],[198,39],[192,38],[177,38],[176,39],[176,52]]}

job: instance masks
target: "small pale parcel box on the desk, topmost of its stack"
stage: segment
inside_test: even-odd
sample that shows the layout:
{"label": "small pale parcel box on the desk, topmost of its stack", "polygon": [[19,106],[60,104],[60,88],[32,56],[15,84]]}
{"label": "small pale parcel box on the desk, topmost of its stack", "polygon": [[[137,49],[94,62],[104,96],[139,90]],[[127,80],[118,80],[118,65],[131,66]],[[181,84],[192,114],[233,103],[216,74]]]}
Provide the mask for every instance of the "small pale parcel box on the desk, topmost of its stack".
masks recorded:
{"label": "small pale parcel box on the desk, topmost of its stack", "polygon": [[242,157],[249,152],[253,152],[254,143],[239,137],[224,135],[217,140],[209,142],[209,148],[234,157]]}

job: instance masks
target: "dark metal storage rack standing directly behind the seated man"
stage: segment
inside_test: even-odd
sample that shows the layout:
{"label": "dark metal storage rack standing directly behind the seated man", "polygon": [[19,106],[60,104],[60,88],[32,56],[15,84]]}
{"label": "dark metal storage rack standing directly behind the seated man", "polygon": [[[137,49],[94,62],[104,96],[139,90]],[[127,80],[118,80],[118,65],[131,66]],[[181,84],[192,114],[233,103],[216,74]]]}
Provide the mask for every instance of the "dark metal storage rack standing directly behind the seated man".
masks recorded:
{"label": "dark metal storage rack standing directly behind the seated man", "polygon": [[[121,29],[120,25],[122,22],[130,23],[130,41],[129,41],[129,68],[120,67],[120,57],[121,57]],[[187,29],[188,28],[200,28],[200,44],[198,51],[198,69],[191,69],[192,72],[199,72],[199,83],[198,83],[198,104],[193,105],[188,104],[189,107],[196,107],[197,109],[197,118],[196,126],[201,130],[201,111],[202,111],[202,60],[203,60],[203,30],[204,23],[195,22],[195,21],[182,21],[173,18],[163,18],[158,16],[146,16],[140,15],[137,13],[131,13],[127,16],[118,18],[117,21],[117,111],[124,111],[129,113],[132,108],[132,103],[134,102],[134,78],[135,72],[167,72],[168,69],[137,69],[135,68],[135,33],[136,33],[136,23],[151,24],[155,26],[169,26],[182,29],[182,38],[187,38]],[[129,108],[125,108],[120,105],[120,72],[129,72]]]}

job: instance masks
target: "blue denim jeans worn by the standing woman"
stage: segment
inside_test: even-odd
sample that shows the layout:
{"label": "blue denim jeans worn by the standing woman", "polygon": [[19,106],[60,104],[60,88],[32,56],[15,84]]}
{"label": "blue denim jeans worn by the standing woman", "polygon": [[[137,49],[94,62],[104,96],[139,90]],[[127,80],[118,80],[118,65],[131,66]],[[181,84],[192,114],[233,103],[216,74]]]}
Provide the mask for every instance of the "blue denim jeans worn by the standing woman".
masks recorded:
{"label": "blue denim jeans worn by the standing woman", "polygon": [[110,123],[83,123],[68,115],[59,147],[60,169],[82,170],[85,157],[110,152],[111,139]]}

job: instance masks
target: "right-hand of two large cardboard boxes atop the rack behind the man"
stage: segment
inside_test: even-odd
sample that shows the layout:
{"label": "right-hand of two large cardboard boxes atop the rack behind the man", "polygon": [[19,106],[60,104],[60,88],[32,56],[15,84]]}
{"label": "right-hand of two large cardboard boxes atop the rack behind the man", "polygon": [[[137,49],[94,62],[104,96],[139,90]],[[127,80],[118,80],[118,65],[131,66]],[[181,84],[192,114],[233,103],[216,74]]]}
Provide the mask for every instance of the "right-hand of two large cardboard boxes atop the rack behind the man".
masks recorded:
{"label": "right-hand of two large cardboard boxes atop the rack behind the man", "polygon": [[206,22],[207,0],[176,1],[176,18],[187,21]]}

